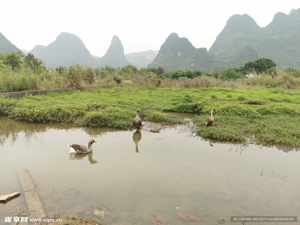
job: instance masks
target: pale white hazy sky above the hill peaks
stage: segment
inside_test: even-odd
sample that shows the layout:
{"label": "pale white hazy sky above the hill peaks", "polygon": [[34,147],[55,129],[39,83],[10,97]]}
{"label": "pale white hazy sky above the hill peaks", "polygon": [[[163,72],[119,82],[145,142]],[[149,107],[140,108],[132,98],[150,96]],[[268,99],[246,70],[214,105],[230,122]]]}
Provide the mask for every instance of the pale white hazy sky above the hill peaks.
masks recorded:
{"label": "pale white hazy sky above the hill peaks", "polygon": [[159,50],[172,32],[208,50],[233,14],[247,13],[265,27],[275,13],[299,7],[299,0],[1,1],[0,32],[27,51],[47,46],[61,32],[77,35],[97,56],[106,53],[113,35],[125,54]]}

